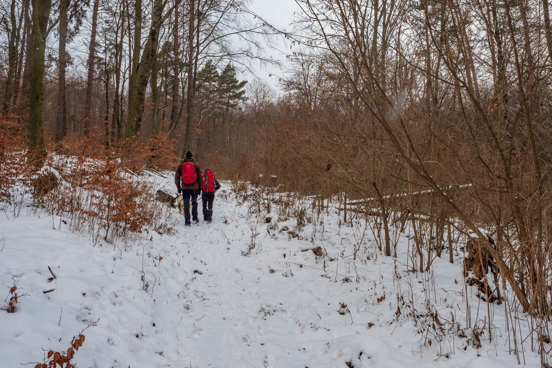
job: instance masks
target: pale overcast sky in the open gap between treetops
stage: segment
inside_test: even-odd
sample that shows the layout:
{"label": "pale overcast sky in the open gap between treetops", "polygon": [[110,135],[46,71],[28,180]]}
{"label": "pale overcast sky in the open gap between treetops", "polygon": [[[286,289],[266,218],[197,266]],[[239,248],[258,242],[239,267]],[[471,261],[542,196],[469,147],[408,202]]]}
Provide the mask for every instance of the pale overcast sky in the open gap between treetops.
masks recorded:
{"label": "pale overcast sky in the open gap between treetops", "polygon": [[[290,29],[291,18],[293,12],[299,9],[295,0],[253,0],[251,10],[262,17],[270,24],[277,26],[279,29]],[[289,52],[289,44],[285,44],[282,38],[278,39],[278,46],[276,50],[269,49],[267,47],[267,55],[282,61],[285,63],[285,53]],[[285,67],[285,65],[283,66]],[[257,67],[256,75],[252,76],[250,73],[244,74],[244,78],[251,80],[254,77],[258,77],[266,80],[270,83],[270,86],[278,88],[278,76],[282,75],[282,70],[278,67]],[[269,77],[272,74],[272,77]]]}

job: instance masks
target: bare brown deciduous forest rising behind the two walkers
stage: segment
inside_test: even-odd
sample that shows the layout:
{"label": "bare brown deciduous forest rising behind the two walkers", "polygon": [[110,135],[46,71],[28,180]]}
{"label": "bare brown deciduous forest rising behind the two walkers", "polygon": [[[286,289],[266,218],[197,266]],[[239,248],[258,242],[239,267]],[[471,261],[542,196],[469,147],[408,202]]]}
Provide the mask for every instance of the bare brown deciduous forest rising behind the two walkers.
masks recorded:
{"label": "bare brown deciduous forest rising behind the two walkers", "polygon": [[[14,152],[31,175],[48,152],[136,172],[191,150],[221,179],[373,219],[387,257],[410,223],[412,270],[463,244],[468,285],[517,311],[513,334],[531,319],[548,367],[548,0],[296,1],[279,29],[241,0],[1,0],[0,182]],[[278,38],[280,90],[243,80],[278,64]]]}

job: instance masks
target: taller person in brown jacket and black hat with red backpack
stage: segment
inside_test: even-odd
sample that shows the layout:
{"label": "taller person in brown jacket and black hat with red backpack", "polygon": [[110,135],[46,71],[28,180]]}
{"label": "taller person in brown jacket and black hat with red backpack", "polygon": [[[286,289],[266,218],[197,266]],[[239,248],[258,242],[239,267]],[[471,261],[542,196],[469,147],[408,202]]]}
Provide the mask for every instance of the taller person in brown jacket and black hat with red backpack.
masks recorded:
{"label": "taller person in brown jacket and black hat with red backpack", "polygon": [[198,195],[203,183],[203,175],[199,165],[194,162],[192,152],[186,152],[184,162],[179,164],[174,173],[174,184],[184,202],[185,225],[190,226],[190,200],[192,201],[192,221],[199,222]]}

